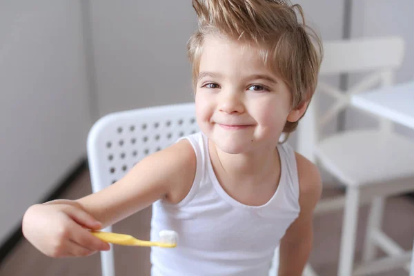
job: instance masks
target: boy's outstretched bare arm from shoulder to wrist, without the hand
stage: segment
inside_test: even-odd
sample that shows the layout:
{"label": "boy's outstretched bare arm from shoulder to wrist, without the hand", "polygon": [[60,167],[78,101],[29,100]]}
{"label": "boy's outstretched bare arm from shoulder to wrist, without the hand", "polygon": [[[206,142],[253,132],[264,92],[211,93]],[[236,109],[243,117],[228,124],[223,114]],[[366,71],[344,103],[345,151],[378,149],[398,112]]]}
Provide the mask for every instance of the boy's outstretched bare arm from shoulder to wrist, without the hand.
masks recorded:
{"label": "boy's outstretched bare arm from shoulder to wrist, without the hand", "polygon": [[193,184],[195,167],[195,152],[183,140],[143,159],[117,183],[76,202],[103,227],[109,226],[158,199],[171,203],[184,199]]}

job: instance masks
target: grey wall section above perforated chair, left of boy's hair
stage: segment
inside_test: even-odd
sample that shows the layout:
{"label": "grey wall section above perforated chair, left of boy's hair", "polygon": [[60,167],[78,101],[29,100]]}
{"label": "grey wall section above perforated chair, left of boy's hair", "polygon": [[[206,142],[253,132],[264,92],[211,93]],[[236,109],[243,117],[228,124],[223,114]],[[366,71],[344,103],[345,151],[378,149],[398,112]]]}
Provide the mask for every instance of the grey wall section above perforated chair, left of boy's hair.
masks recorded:
{"label": "grey wall section above perforated chair, left of boy's hair", "polygon": [[99,116],[193,100],[190,1],[90,0],[90,16]]}

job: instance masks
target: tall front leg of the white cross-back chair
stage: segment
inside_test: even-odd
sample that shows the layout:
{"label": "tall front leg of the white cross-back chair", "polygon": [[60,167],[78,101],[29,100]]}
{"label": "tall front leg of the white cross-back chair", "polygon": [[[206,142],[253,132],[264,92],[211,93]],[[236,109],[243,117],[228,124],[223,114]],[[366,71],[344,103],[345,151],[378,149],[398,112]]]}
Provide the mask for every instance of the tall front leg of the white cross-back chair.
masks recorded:
{"label": "tall front leg of the white cross-back chair", "polygon": [[353,273],[358,207],[359,188],[348,187],[346,189],[344,221],[342,224],[342,239],[339,252],[339,266],[337,273],[339,276],[351,276]]}

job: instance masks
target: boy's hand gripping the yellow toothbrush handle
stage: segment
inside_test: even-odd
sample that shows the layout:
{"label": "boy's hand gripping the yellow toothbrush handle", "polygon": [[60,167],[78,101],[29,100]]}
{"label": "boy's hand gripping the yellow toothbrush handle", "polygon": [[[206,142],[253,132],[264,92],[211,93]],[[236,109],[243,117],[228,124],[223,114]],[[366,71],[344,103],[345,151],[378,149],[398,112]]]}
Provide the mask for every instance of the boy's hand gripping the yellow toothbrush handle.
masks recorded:
{"label": "boy's hand gripping the yellow toothbrush handle", "polygon": [[109,250],[106,242],[88,229],[99,230],[101,223],[71,204],[36,204],[23,217],[23,235],[49,257],[88,256]]}

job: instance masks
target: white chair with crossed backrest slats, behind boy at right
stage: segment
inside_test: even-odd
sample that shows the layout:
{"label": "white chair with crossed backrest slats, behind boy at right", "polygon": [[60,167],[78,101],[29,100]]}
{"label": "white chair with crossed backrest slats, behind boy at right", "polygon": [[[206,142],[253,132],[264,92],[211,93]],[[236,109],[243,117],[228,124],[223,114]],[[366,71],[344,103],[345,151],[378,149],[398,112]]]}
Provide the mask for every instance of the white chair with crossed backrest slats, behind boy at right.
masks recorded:
{"label": "white chair with crossed backrest slats, behind boy at right", "polygon": [[[324,60],[320,75],[372,72],[348,91],[319,81],[317,94],[324,92],[336,102],[323,115],[317,108],[317,97],[299,124],[298,151],[317,162],[346,186],[345,198],[324,199],[316,214],[344,207],[342,242],[338,275],[366,275],[390,268],[387,262],[372,263],[377,246],[388,255],[388,263],[404,264],[404,250],[381,230],[384,197],[414,190],[414,183],[400,181],[414,176],[414,142],[393,132],[390,121],[379,119],[377,128],[346,130],[322,137],[322,129],[349,107],[352,93],[362,92],[379,84],[391,85],[393,71],[400,67],[404,41],[400,37],[351,39],[324,42]],[[366,229],[363,260],[365,265],[353,269],[358,207],[370,201],[371,210]],[[400,255],[397,257],[397,255]]]}

